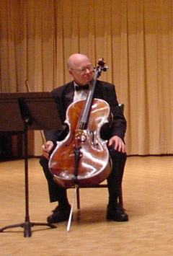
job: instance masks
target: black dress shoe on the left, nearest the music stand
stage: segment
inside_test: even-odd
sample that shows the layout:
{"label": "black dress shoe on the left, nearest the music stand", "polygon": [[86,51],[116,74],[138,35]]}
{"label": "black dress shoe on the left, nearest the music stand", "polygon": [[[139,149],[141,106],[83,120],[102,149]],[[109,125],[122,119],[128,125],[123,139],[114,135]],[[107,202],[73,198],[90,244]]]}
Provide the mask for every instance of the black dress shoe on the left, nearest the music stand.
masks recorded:
{"label": "black dress shoe on the left, nearest the music stand", "polygon": [[48,216],[47,221],[48,223],[58,223],[61,221],[67,221],[70,215],[70,211],[71,211],[70,205],[66,207],[57,206],[53,210],[53,213],[50,216]]}

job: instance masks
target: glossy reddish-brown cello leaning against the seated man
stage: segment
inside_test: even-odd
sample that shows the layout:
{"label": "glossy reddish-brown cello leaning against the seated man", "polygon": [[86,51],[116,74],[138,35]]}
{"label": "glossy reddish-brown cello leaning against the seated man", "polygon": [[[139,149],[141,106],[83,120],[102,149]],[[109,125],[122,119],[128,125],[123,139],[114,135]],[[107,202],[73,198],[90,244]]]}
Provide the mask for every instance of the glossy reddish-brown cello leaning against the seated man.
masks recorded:
{"label": "glossy reddish-brown cello leaning against the seated man", "polygon": [[68,135],[58,141],[48,163],[53,179],[61,187],[89,187],[105,180],[111,172],[107,141],[100,136],[112,115],[105,100],[93,98],[97,78],[107,71],[99,59],[86,100],[72,102],[66,111]]}

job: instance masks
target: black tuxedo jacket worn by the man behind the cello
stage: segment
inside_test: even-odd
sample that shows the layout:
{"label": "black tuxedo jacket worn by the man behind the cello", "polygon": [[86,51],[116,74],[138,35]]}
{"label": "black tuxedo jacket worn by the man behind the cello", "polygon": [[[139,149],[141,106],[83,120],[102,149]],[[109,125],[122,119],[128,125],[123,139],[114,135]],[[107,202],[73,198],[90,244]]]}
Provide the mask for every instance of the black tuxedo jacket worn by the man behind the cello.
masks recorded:
{"label": "black tuxedo jacket worn by the man behind the cello", "polygon": [[[61,117],[62,123],[66,120],[66,110],[73,102],[74,98],[74,81],[64,84],[61,87],[53,89],[53,97],[56,100],[56,107]],[[109,139],[112,136],[119,136],[124,139],[126,131],[126,120],[122,110],[118,106],[115,86],[105,81],[97,80],[94,90],[94,98],[105,100],[110,105],[110,111],[113,115],[112,126],[107,131],[105,138]],[[45,131],[45,138],[48,141],[58,141],[60,131]]]}

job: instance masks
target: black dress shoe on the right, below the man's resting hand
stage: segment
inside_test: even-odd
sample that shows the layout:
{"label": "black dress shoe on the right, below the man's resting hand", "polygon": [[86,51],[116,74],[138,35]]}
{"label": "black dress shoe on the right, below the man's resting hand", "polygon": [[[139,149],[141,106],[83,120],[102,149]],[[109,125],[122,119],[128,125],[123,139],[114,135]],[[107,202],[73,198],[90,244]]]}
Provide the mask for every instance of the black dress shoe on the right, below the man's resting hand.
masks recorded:
{"label": "black dress shoe on the right, below the man's resting hand", "polygon": [[128,221],[128,214],[125,213],[120,203],[117,206],[107,206],[107,219],[112,221]]}

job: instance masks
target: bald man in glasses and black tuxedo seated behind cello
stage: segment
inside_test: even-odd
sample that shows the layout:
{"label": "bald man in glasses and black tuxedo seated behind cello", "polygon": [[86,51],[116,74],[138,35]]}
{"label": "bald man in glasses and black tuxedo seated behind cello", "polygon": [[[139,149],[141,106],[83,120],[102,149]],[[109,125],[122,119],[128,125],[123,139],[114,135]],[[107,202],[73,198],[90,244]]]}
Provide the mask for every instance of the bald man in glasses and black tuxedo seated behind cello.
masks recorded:
{"label": "bald man in glasses and black tuxedo seated behind cello", "polygon": [[[71,102],[85,100],[89,89],[89,82],[93,79],[94,67],[89,58],[81,53],[74,53],[68,58],[68,72],[73,77],[73,81],[63,84],[61,87],[53,89],[53,97],[61,117],[62,123],[66,120],[66,110]],[[109,131],[102,134],[102,138],[107,139],[107,147],[112,159],[112,172],[107,178],[108,204],[107,219],[112,221],[128,221],[128,214],[117,202],[120,194],[120,185],[123,180],[123,172],[126,161],[124,136],[126,131],[126,120],[123,112],[118,107],[117,96],[114,84],[97,80],[94,90],[94,98],[105,100],[110,105],[113,120]],[[50,110],[51,111],[51,110]],[[50,154],[56,146],[56,141],[62,140],[68,133],[68,127],[64,131],[45,131],[46,143],[42,146],[43,156],[40,164],[43,167],[45,177],[48,181],[50,203],[58,202],[58,206],[53,213],[48,216],[48,223],[58,223],[67,221],[71,211],[68,202],[66,188],[59,186],[54,180],[48,167]]]}

